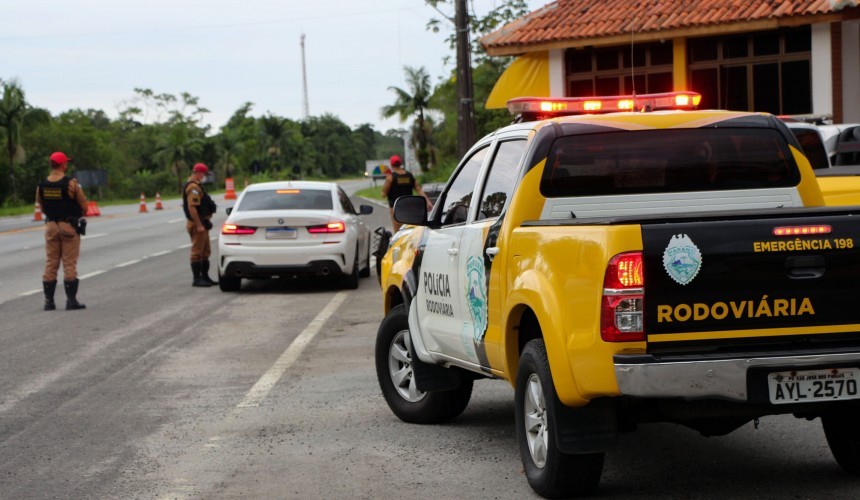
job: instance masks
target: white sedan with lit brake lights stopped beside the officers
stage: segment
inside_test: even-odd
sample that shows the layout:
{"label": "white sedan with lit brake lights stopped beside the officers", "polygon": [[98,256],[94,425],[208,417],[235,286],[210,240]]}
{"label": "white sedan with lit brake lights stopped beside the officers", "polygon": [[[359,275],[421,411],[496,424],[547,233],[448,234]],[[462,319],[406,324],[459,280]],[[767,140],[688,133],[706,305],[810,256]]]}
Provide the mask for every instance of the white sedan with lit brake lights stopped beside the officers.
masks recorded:
{"label": "white sedan with lit brake lights stopped beside the officers", "polygon": [[218,238],[218,283],[236,291],[242,279],[274,276],[339,278],[357,288],[370,276],[370,230],[337,184],[284,181],[252,184]]}

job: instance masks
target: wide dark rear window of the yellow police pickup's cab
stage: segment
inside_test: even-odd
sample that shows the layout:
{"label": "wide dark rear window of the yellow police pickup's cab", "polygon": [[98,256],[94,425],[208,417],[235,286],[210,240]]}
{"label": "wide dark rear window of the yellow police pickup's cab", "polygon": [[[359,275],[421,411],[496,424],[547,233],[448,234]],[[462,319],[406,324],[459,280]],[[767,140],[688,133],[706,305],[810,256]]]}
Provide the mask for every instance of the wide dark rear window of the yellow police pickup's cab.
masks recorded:
{"label": "wide dark rear window of the yellow police pickup's cab", "polygon": [[777,130],[701,128],[579,134],[557,139],[547,197],[796,186],[800,172]]}

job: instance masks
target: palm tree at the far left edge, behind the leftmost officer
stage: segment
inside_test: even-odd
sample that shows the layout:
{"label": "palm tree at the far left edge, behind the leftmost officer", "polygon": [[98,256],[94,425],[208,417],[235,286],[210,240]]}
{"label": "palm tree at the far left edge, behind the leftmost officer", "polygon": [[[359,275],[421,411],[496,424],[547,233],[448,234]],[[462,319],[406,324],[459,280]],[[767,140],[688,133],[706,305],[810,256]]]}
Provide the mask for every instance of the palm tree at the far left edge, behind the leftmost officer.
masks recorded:
{"label": "palm tree at the far left edge, behind the leftmost officer", "polygon": [[6,146],[9,158],[9,185],[12,190],[12,202],[18,201],[18,189],[15,185],[15,161],[24,161],[25,152],[21,145],[24,126],[35,122],[46,122],[51,115],[44,109],[27,105],[24,89],[16,80],[3,85],[3,99],[0,100],[0,133]]}

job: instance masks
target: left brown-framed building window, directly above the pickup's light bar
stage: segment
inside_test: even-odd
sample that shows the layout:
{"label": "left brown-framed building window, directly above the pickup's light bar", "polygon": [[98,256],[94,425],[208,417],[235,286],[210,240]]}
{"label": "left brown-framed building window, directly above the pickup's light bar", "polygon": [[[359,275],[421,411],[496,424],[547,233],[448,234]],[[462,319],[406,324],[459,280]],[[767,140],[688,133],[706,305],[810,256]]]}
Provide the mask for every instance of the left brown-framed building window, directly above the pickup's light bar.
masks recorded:
{"label": "left brown-framed building window, directly above the pickup's light bar", "polygon": [[567,49],[567,95],[590,97],[671,92],[672,43]]}

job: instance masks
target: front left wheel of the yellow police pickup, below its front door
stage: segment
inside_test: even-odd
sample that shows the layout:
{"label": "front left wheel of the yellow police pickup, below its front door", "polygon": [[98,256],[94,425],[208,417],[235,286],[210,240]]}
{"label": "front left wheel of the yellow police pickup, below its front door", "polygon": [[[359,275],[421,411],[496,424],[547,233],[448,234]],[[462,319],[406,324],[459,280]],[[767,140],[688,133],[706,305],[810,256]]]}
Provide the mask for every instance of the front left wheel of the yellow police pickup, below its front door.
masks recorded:
{"label": "front left wheel of the yellow police pickup, below its front door", "polygon": [[[409,351],[406,306],[388,313],[376,334],[376,378],[391,411],[413,424],[440,424],[453,420],[472,397],[472,380],[451,391],[421,392],[415,387]],[[395,381],[396,380],[396,381]]]}

